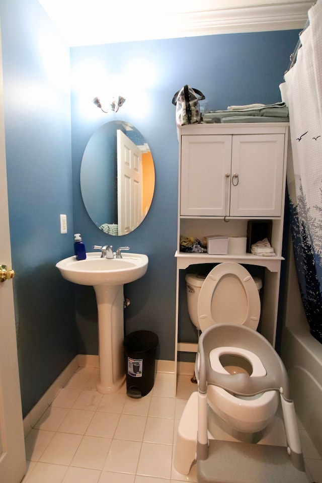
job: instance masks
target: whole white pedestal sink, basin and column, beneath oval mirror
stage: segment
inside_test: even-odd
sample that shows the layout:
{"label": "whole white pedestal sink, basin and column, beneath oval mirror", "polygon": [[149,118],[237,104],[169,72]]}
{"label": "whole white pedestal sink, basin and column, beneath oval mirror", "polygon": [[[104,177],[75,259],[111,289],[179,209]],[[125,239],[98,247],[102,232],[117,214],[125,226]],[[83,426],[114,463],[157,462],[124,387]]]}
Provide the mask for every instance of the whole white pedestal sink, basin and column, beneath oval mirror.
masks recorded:
{"label": "whole white pedestal sink, basin and column, beneath oval mirror", "polygon": [[124,295],[123,285],[143,277],[148,258],[137,253],[123,258],[106,259],[88,253],[86,260],[65,258],[56,264],[69,282],[93,285],[96,293],[99,326],[100,381],[97,390],[103,394],[117,391],[124,382]]}

